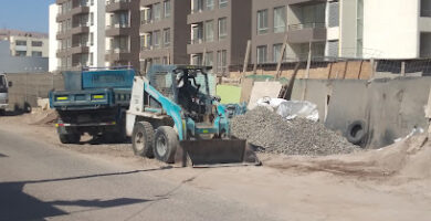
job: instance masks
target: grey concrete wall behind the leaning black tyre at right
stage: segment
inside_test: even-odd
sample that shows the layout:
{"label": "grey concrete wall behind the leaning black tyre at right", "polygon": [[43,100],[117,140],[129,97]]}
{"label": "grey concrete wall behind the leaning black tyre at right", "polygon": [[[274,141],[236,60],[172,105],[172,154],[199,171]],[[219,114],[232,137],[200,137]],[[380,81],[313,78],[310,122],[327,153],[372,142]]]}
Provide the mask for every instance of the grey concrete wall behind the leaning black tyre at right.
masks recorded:
{"label": "grey concrete wall behind the leaning black tyre at right", "polygon": [[[307,83],[305,83],[307,82]],[[424,107],[431,77],[403,77],[395,80],[298,80],[293,99],[317,104],[325,125],[345,135],[348,125],[364,120],[367,125],[367,146],[379,148],[404,137],[414,128],[427,130],[429,122]]]}

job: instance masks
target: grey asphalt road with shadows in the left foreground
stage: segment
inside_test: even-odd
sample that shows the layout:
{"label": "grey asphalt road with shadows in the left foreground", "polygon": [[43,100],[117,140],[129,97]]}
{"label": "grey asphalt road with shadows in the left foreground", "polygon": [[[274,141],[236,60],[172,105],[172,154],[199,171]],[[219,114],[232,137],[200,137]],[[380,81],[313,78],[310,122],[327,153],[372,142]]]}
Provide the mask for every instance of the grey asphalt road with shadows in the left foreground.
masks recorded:
{"label": "grey asphalt road with shadows in the left foreground", "polygon": [[0,128],[0,220],[275,220],[147,171]]}

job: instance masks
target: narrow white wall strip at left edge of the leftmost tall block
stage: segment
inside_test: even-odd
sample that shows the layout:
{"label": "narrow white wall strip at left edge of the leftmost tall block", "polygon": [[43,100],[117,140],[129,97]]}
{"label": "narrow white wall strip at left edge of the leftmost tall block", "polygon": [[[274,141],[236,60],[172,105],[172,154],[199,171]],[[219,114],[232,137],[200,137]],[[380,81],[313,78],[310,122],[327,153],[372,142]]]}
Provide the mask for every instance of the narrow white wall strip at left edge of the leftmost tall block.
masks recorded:
{"label": "narrow white wall strip at left edge of the leftmost tall block", "polygon": [[56,32],[59,31],[59,25],[55,21],[56,14],[59,12],[59,7],[53,3],[50,6],[50,45],[49,45],[49,71],[54,72],[59,66],[59,60],[56,57],[56,50],[59,48],[56,41]]}

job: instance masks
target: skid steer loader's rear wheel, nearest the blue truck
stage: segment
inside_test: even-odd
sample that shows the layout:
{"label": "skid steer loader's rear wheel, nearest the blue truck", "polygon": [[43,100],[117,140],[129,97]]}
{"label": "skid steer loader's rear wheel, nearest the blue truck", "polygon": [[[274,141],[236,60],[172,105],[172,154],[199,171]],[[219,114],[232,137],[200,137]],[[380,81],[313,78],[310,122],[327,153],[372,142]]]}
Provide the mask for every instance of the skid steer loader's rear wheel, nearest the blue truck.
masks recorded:
{"label": "skid steer loader's rear wheel, nearest the blue truck", "polygon": [[135,155],[153,158],[154,128],[148,122],[138,122],[135,124],[132,134],[132,147]]}

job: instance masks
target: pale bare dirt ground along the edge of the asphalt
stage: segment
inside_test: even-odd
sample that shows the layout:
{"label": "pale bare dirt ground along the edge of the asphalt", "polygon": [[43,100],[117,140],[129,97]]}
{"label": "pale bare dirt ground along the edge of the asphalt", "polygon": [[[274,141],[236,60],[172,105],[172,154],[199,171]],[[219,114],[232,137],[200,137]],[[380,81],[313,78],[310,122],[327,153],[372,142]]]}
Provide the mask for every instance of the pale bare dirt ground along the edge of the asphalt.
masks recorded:
{"label": "pale bare dirt ground along the edge of the asphalt", "polygon": [[[38,110],[4,116],[0,117],[0,127],[134,169],[166,167],[134,156],[130,144],[62,145],[50,124],[51,118],[51,114]],[[425,135],[351,155],[259,157],[262,167],[193,169],[172,166],[150,173],[187,182],[285,220],[430,220],[431,141]]]}

